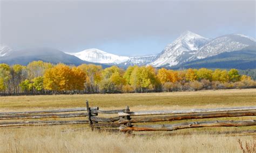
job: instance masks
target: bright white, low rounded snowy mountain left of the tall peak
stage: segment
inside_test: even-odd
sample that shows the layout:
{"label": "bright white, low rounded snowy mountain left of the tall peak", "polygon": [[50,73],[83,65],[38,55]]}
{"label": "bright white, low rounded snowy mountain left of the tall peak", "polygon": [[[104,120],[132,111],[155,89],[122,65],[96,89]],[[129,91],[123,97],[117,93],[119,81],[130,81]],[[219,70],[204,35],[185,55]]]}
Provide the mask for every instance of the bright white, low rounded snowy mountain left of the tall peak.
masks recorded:
{"label": "bright white, low rounded snowy mountain left of the tall peak", "polygon": [[121,62],[125,62],[130,59],[130,57],[107,53],[107,52],[98,50],[96,48],[91,48],[78,53],[68,53],[68,54],[75,55],[79,59],[82,59],[85,61],[98,62],[98,63],[104,63],[104,64],[119,64]]}

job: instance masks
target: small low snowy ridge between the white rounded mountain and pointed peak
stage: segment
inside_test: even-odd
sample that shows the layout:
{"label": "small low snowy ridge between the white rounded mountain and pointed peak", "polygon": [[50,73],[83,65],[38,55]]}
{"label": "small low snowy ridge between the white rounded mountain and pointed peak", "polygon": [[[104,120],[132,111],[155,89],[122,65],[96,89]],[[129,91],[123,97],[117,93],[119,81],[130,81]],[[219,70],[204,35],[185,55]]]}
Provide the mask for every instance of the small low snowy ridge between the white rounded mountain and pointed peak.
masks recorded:
{"label": "small low snowy ridge between the white rounded mountain and pointed peak", "polygon": [[145,55],[145,56],[141,56],[141,57],[130,57],[129,60],[122,62],[122,65],[125,66],[133,66],[133,65],[138,65],[138,66],[142,66],[142,65],[147,65],[150,62],[152,62],[154,59],[156,59],[158,54],[152,54],[152,55]]}

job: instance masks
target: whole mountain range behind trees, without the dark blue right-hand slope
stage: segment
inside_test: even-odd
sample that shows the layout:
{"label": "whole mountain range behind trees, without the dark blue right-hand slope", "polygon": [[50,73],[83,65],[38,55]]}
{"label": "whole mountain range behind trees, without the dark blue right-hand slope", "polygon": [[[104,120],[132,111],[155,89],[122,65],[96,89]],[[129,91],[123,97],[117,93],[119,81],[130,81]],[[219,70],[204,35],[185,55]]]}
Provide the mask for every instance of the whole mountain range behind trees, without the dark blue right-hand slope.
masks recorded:
{"label": "whole mountain range behind trees, without the dark blue right-hand slope", "polygon": [[[163,51],[158,54],[144,55],[138,57],[127,57],[107,53],[97,48],[83,50],[77,53],[64,53],[54,48],[36,48],[14,51],[6,45],[0,45],[0,63],[27,64],[31,60],[43,60],[53,63],[63,62],[65,64],[96,64],[109,67],[117,65],[128,67],[133,65],[154,67],[177,67],[186,65],[188,62],[199,59],[209,59],[218,54],[241,51],[244,48],[255,46],[254,38],[244,34],[233,33],[219,36],[214,39],[205,38],[191,31],[180,34],[172,43],[167,44]],[[252,47],[256,51],[256,48]],[[238,55],[238,53],[235,53]],[[242,55],[242,53],[241,53]],[[244,54],[243,54],[244,55]],[[222,58],[222,57],[221,57]],[[239,58],[239,57],[235,57]],[[242,58],[242,57],[240,57]],[[242,61],[242,59],[241,59]],[[232,61],[230,61],[232,62]]]}

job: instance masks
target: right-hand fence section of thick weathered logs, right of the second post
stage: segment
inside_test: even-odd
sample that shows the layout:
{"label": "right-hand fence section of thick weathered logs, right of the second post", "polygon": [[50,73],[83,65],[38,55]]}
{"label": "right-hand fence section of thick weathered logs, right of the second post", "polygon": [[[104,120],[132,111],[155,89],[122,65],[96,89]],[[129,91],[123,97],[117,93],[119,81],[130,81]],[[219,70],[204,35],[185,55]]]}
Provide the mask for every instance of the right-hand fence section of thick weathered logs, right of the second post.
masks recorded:
{"label": "right-hand fence section of thick weathered logs, right of the second post", "polygon": [[165,122],[190,119],[209,119],[217,117],[256,116],[256,106],[213,108],[213,109],[188,109],[188,110],[150,110],[140,112],[118,113],[121,126],[120,131],[172,131],[186,128],[199,127],[240,127],[256,126],[256,120],[249,121],[201,121],[184,122],[176,124],[136,125],[133,123]]}

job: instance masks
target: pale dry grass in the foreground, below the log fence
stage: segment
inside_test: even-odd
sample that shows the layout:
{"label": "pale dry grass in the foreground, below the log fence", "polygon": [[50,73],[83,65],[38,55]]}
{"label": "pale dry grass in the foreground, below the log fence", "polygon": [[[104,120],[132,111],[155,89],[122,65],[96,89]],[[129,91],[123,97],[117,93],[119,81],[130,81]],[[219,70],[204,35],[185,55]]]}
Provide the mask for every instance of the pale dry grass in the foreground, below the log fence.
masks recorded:
{"label": "pale dry grass in the foreground, below the log fence", "polygon": [[[11,131],[11,133],[10,133]],[[214,134],[149,136],[99,133],[55,126],[1,129],[0,152],[241,152],[242,142],[255,136]]]}

